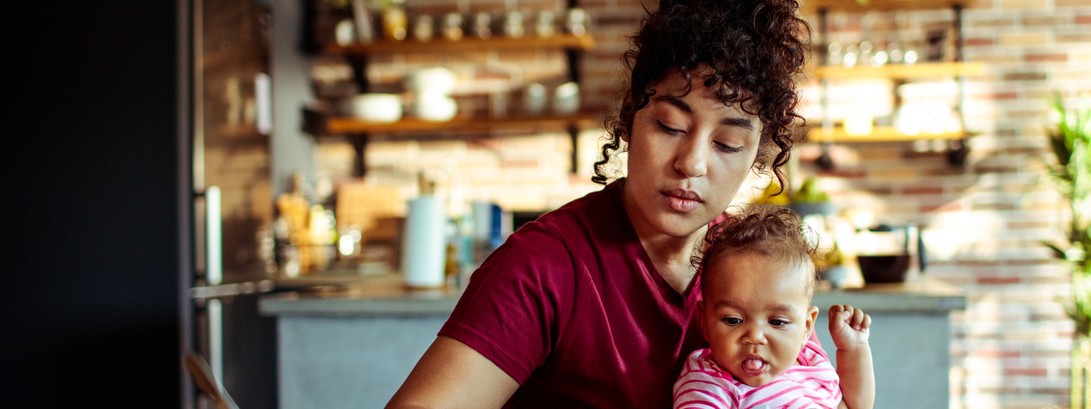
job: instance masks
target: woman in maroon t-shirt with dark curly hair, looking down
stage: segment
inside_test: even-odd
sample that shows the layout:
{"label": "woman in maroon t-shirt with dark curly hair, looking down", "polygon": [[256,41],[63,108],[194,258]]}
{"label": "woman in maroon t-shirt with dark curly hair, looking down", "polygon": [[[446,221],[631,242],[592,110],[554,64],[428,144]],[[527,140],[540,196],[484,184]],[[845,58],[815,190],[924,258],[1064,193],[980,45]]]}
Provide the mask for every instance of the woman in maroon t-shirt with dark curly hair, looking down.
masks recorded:
{"label": "woman in maroon t-shirt with dark curly hair, looking down", "polygon": [[[389,408],[667,408],[704,346],[691,257],[747,172],[781,166],[806,23],[794,0],[664,0],[594,180],[482,263]],[[611,158],[627,151],[627,176]],[[781,185],[784,185],[781,181]]]}

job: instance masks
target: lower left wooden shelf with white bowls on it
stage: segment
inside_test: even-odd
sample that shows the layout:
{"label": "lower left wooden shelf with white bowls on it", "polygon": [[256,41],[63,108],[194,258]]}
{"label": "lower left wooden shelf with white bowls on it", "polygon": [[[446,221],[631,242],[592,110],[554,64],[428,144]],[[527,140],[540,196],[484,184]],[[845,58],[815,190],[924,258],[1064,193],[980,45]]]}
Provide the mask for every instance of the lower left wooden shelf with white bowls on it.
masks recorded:
{"label": "lower left wooden shelf with white bowls on it", "polygon": [[314,133],[322,134],[424,134],[465,133],[492,131],[540,131],[568,128],[589,128],[601,122],[597,112],[578,112],[568,116],[509,116],[509,117],[456,117],[449,121],[425,121],[405,118],[396,122],[370,122],[352,117],[312,116]]}

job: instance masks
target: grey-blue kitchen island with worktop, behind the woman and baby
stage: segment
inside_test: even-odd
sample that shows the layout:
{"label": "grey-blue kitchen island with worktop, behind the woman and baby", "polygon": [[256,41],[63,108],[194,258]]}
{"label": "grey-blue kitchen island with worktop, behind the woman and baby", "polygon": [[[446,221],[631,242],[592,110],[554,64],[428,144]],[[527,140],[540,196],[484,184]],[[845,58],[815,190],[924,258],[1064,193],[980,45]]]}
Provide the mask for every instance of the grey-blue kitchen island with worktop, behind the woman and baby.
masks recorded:
{"label": "grey-blue kitchen island with worktop, behind the woman and baby", "polygon": [[[262,313],[277,317],[280,407],[382,407],[457,300],[455,290],[407,290],[397,275],[353,277],[264,297]],[[950,312],[966,308],[958,288],[924,276],[819,289],[814,303],[822,311],[815,325],[818,338],[835,362],[825,320],[829,305],[848,303],[872,315],[876,407],[948,406]]]}

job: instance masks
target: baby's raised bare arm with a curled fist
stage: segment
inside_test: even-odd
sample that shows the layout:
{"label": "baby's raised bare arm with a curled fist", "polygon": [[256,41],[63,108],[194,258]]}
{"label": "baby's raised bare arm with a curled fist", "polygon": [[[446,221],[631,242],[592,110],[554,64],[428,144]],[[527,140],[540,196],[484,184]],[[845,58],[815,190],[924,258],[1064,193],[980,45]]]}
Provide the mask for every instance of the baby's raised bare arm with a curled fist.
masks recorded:
{"label": "baby's raised bare arm with a curled fist", "polygon": [[829,335],[837,345],[837,375],[841,395],[851,409],[875,407],[875,369],[867,344],[872,317],[852,305],[829,308]]}

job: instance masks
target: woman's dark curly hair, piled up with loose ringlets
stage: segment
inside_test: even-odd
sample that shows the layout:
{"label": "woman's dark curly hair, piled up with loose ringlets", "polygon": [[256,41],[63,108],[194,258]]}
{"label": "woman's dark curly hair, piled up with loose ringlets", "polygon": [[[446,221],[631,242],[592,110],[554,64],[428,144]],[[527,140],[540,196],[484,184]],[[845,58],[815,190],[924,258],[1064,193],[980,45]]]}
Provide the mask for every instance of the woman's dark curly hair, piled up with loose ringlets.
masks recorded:
{"label": "woman's dark curly hair, piled up with loose ringlets", "polygon": [[658,82],[679,70],[692,86],[692,72],[708,67],[712,73],[704,76],[704,85],[719,86],[717,96],[724,104],[739,103],[764,123],[755,169],[771,167],[786,187],[781,167],[791,155],[792,123],[803,119],[795,112],[795,76],[811,37],[799,9],[795,0],[662,0],[630,37],[632,47],[624,55],[628,87],[606,121],[609,141],[591,181],[606,184],[611,179],[607,165],[622,149],[622,136],[632,131],[633,117],[648,105]]}

